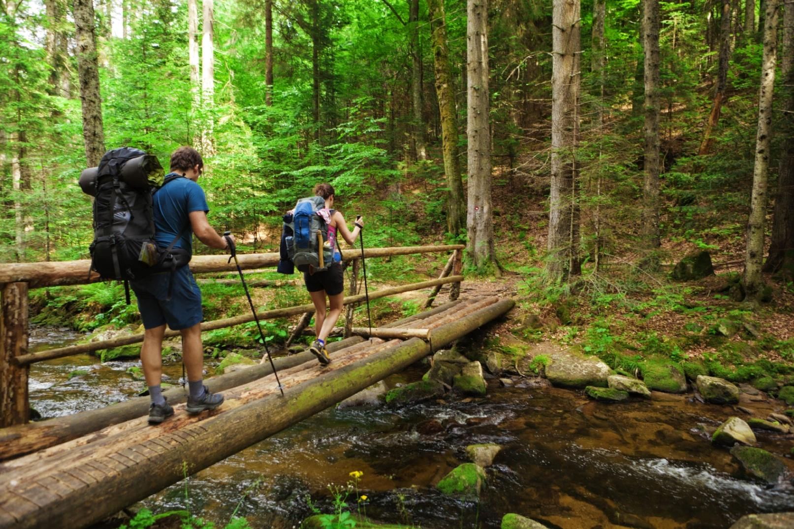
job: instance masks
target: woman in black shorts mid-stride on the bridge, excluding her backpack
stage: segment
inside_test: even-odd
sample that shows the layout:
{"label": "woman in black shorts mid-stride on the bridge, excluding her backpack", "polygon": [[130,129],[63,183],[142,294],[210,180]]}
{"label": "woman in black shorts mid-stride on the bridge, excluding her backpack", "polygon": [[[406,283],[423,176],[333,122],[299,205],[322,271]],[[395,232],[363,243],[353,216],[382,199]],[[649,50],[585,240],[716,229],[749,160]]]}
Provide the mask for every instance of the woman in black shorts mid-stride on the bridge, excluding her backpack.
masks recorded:
{"label": "woman in black shorts mid-stride on the bridge, excluding her backpack", "polygon": [[[333,187],[330,183],[318,183],[314,186],[314,195],[320,196],[326,201],[325,210],[328,218],[328,241],[334,254],[337,254],[337,235],[341,235],[349,244],[353,245],[356,237],[364,227],[364,218],[360,215],[356,218],[355,227],[351,232],[348,229],[345,217],[338,210],[333,209]],[[322,211],[322,210],[321,210]],[[323,214],[325,218],[325,214]],[[333,264],[323,272],[303,272],[303,281],[306,283],[306,290],[309,291],[311,302],[314,303],[314,334],[317,339],[309,346],[309,350],[320,361],[322,365],[328,365],[331,361],[326,350],[326,338],[337,324],[337,320],[342,313],[342,300],[345,299],[345,278],[342,273],[341,258],[334,259]],[[326,296],[328,297],[328,314],[326,314]]]}

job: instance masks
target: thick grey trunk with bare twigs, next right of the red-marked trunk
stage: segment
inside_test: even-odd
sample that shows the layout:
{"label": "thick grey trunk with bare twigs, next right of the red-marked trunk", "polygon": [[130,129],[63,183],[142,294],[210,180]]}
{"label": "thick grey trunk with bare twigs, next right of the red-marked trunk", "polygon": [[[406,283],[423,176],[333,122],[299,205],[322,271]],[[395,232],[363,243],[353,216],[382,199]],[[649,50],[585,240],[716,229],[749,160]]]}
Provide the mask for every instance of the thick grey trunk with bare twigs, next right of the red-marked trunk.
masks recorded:
{"label": "thick grey trunk with bare twigs, next right of the red-marked trunk", "polygon": [[580,3],[554,0],[552,10],[551,191],[546,272],[562,280],[580,272],[576,191],[579,168]]}

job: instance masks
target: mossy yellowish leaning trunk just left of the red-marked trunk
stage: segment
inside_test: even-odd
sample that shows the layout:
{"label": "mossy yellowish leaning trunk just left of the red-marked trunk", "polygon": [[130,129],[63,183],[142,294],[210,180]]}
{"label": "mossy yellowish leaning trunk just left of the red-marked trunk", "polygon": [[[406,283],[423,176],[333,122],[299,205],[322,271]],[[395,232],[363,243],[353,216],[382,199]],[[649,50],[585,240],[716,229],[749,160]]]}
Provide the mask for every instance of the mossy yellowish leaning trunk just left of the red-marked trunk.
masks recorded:
{"label": "mossy yellowish leaning trunk just left of the red-marked trunk", "polygon": [[461,162],[457,153],[457,110],[452,66],[449,63],[444,0],[427,0],[433,31],[433,58],[436,73],[436,97],[441,114],[441,146],[444,151],[444,173],[449,188],[447,230],[453,237],[461,233],[466,221]]}

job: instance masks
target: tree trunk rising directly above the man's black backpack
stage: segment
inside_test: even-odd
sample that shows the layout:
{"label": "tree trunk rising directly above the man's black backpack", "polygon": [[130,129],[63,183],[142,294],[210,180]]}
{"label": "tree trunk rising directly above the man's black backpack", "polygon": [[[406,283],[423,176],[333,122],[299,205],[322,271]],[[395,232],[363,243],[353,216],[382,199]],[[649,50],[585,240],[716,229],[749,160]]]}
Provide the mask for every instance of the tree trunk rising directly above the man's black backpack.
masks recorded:
{"label": "tree trunk rising directly above the man's black backpack", "polygon": [[92,0],[72,0],[72,2],[80,99],[83,104],[83,142],[88,167],[94,167],[99,164],[102,154],[105,153],[102,97],[99,95],[99,67],[94,36],[94,3]]}

